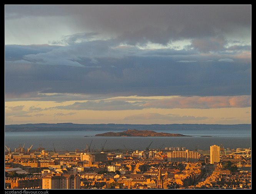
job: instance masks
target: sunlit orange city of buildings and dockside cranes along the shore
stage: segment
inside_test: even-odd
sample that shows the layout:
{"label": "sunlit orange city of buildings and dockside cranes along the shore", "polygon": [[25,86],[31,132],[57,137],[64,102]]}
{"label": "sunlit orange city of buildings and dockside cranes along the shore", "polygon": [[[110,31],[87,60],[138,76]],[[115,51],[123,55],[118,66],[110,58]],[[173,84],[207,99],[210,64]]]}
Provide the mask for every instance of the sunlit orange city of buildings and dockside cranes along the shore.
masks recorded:
{"label": "sunlit orange city of buildings and dockside cranes along the shore", "polygon": [[5,152],[7,189],[251,189],[251,149],[57,152],[24,145]]}

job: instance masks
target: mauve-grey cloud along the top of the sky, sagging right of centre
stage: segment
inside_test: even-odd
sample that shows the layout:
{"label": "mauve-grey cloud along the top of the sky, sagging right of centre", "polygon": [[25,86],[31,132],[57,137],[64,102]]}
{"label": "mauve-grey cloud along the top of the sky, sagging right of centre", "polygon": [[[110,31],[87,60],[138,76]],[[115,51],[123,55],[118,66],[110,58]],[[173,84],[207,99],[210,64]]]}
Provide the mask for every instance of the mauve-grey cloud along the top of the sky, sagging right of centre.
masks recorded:
{"label": "mauve-grey cloud along the top of the sky, sagging right of centre", "polygon": [[131,45],[216,37],[251,26],[250,5],[19,5],[5,6],[5,18],[68,16],[80,31],[116,36]]}

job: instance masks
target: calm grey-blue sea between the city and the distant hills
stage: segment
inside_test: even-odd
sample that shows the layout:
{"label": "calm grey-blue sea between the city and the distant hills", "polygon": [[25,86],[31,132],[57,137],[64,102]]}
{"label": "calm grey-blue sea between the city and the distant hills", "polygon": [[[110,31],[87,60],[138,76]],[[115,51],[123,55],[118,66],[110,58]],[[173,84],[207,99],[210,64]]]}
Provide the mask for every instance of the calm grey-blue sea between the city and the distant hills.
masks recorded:
{"label": "calm grey-blue sea between the city and the distant hills", "polygon": [[[123,130],[121,130],[123,131]],[[106,142],[105,149],[130,148],[133,150],[145,150],[153,141],[150,148],[159,148],[162,144],[164,147],[186,147],[194,150],[198,146],[201,150],[209,150],[211,145],[223,144],[225,148],[249,148],[251,147],[251,132],[232,130],[170,130],[156,132],[181,133],[191,135],[192,137],[95,137],[98,133],[106,131],[75,131],[75,132],[5,132],[5,145],[11,150],[25,143],[25,149],[33,144],[33,148],[43,146],[46,150],[53,150],[53,143],[57,151],[74,151],[75,149],[83,150],[86,144],[92,141],[94,149],[100,149],[101,144]],[[118,132],[118,131],[115,131]],[[213,137],[201,137],[208,135]],[[88,137],[85,137],[88,136]],[[124,146],[125,145],[125,146]],[[32,149],[33,149],[32,148]]]}

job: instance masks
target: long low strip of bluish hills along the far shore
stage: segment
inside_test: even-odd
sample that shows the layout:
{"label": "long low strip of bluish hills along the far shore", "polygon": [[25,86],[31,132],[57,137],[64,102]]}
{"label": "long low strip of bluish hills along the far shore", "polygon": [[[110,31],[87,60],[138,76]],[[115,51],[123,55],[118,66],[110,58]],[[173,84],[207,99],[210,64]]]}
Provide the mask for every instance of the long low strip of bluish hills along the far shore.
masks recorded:
{"label": "long low strip of bluish hills along the far shore", "polygon": [[251,124],[208,125],[208,124],[74,124],[74,123],[38,123],[22,125],[5,125],[5,132],[42,132],[42,131],[90,131],[90,130],[251,130]]}

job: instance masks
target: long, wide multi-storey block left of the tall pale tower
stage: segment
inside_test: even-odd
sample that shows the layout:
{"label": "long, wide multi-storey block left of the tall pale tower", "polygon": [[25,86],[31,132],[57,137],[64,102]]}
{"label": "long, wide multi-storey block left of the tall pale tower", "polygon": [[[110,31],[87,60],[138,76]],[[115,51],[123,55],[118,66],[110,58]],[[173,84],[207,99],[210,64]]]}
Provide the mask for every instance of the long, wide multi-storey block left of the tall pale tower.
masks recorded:
{"label": "long, wide multi-storey block left of the tall pale tower", "polygon": [[168,162],[198,162],[197,151],[171,151],[167,153]]}

